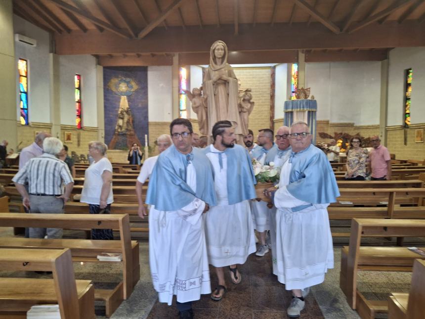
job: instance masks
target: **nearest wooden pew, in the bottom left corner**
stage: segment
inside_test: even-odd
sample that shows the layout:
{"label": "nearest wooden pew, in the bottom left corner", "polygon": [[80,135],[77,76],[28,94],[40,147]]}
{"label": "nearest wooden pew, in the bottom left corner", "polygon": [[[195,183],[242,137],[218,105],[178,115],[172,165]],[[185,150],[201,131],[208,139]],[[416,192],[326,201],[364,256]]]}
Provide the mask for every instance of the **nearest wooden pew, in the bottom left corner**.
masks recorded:
{"label": "nearest wooden pew, in the bottom left corner", "polygon": [[0,278],[0,317],[27,318],[38,304],[58,304],[62,319],[94,319],[91,280],[75,280],[69,249],[0,249],[1,270],[51,271],[53,279]]}

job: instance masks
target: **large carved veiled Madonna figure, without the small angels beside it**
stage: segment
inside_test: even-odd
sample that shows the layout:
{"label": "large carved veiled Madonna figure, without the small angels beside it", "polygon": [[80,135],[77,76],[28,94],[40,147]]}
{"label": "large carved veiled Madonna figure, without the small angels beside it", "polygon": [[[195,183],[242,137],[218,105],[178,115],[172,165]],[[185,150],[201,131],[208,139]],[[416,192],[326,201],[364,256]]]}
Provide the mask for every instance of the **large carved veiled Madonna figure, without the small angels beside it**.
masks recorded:
{"label": "large carved veiled Madonna figure, without the small angels beside it", "polygon": [[207,98],[208,135],[212,135],[213,125],[222,120],[232,122],[238,140],[248,134],[243,128],[239,115],[238,79],[227,63],[227,46],[223,41],[215,41],[210,48],[210,65],[204,71],[202,84]]}

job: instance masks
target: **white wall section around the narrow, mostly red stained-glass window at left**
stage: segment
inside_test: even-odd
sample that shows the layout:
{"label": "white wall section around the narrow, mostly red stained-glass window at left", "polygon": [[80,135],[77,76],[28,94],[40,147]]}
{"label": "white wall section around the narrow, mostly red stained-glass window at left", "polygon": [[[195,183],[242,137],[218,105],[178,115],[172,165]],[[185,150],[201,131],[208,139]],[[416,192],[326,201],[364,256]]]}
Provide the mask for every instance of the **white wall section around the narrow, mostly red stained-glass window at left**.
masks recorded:
{"label": "white wall section around the narrow, mostly red stained-glass window at left", "polygon": [[81,75],[83,127],[97,127],[96,59],[91,55],[60,55],[61,124],[76,125],[75,75]]}

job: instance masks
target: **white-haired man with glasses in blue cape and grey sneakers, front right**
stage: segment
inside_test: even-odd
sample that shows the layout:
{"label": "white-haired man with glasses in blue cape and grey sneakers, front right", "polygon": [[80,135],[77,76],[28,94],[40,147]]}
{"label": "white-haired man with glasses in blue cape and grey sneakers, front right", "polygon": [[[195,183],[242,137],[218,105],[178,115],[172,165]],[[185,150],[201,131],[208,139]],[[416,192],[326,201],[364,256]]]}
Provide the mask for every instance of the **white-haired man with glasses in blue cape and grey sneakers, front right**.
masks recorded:
{"label": "white-haired man with glasses in blue cape and grey sneakers, front right", "polygon": [[334,268],[334,251],[327,207],[340,195],[335,174],[325,154],[311,144],[306,123],[291,126],[291,153],[282,166],[279,188],[265,190],[276,213],[276,267],[273,273],[292,290],[287,309],[298,318],[309,287],[322,283]]}

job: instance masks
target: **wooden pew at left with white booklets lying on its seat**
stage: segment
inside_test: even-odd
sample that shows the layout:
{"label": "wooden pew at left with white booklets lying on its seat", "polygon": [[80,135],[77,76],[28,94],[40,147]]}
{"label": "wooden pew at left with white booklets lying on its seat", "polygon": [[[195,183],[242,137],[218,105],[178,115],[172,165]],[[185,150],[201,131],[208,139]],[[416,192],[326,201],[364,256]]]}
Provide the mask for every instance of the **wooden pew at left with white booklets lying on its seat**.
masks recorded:
{"label": "wooden pew at left with white booklets lying on its seat", "polygon": [[139,244],[130,239],[129,217],[124,215],[84,214],[20,214],[1,213],[0,227],[44,227],[71,229],[119,229],[120,240],[38,239],[0,237],[2,248],[71,249],[74,261],[99,262],[100,253],[123,254],[123,281],[115,289],[96,289],[96,300],[106,303],[106,316],[110,317],[123,299],[127,299],[140,278]]}

